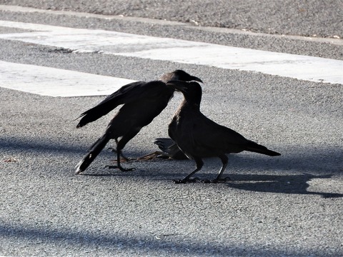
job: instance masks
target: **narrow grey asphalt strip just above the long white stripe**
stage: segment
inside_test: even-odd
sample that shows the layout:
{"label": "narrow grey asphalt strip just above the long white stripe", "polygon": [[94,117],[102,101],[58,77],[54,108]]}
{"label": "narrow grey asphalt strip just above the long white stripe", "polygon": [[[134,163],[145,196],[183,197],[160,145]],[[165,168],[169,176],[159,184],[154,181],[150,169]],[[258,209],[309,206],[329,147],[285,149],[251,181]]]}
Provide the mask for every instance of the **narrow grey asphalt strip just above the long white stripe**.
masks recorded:
{"label": "narrow grey asphalt strip just above the long white stripe", "polygon": [[[5,9],[5,10],[4,10]],[[71,26],[82,29],[105,29],[149,36],[169,37],[191,41],[202,41],[225,46],[237,46],[249,49],[276,51],[287,54],[301,54],[329,59],[343,60],[343,43],[341,39],[323,39],[279,36],[275,34],[257,34],[237,29],[221,29],[204,26],[190,26],[174,24],[168,21],[127,17],[94,16],[93,14],[79,14],[62,11],[55,14],[51,11],[6,11],[0,10],[1,19],[9,21],[36,22],[55,26]],[[55,15],[53,15],[55,14]],[[79,15],[78,15],[79,14]],[[77,17],[77,19],[76,19]],[[9,29],[0,31],[6,33]],[[11,29],[11,32],[16,32]]]}

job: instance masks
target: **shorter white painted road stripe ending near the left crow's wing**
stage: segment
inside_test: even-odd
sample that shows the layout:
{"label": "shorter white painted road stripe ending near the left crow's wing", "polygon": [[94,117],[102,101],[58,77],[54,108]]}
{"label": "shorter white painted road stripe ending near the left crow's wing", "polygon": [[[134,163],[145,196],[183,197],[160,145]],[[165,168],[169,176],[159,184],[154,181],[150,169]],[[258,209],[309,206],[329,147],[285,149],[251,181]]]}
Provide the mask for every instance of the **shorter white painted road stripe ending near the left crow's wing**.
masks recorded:
{"label": "shorter white painted road stripe ending near the left crow's wing", "polygon": [[131,82],[134,81],[0,61],[0,86],[43,96],[106,96]]}

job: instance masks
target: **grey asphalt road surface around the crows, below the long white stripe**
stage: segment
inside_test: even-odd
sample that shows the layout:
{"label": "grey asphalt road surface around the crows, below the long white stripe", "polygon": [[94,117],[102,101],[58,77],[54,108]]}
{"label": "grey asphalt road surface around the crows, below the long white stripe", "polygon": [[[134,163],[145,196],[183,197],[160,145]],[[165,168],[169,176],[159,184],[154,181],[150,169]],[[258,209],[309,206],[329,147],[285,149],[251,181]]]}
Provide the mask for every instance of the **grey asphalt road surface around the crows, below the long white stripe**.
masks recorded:
{"label": "grey asphalt road surface around the crows, below the long white stripe", "polygon": [[[53,14],[24,18],[1,11],[0,19],[106,26],[101,19]],[[134,21],[125,28],[161,33],[159,26]],[[174,35],[175,29],[163,28]],[[202,35],[207,39],[211,32]],[[184,69],[204,81],[205,115],[282,153],[229,156],[225,174],[232,181],[219,184],[172,183],[192,171],[192,161],[124,163],[136,171],[108,170],[104,166],[114,157],[107,151],[75,176],[74,166],[111,114],[84,129],[75,129],[74,119],[103,97],[53,98],[0,87],[0,256],[343,256],[342,85],[0,44],[2,61],[126,79],[151,80]],[[292,44],[302,49],[302,41]],[[176,94],[128,143],[126,155],[154,151],[152,141],[166,136],[180,101]],[[198,176],[214,178],[220,161],[204,162]]]}

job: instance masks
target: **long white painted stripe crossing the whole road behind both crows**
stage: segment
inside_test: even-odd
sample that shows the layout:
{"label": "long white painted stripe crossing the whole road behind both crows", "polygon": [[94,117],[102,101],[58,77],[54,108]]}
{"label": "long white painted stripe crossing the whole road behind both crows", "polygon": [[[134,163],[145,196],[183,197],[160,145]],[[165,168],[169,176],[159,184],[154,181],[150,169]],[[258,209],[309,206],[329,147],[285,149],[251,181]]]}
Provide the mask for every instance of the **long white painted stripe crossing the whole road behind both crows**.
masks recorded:
{"label": "long white painted stripe crossing the whole road behind both crows", "polygon": [[96,51],[343,84],[343,61],[340,60],[116,31],[73,29],[14,21],[0,21],[0,26],[34,30],[26,33],[0,34],[0,39],[56,46],[74,51]]}

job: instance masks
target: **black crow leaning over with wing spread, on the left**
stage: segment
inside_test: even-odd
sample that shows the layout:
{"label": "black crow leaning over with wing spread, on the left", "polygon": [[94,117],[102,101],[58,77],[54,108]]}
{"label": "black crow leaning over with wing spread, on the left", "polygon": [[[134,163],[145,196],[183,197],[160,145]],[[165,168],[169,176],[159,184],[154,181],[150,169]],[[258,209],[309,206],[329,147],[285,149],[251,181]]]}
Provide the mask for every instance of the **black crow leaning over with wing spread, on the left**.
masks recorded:
{"label": "black crow leaning over with wing spread, on the left", "polygon": [[116,166],[121,171],[131,171],[133,168],[123,168],[120,165],[121,150],[131,138],[134,138],[142,127],[151,123],[166,107],[174,94],[174,89],[166,86],[166,81],[199,81],[201,79],[191,76],[182,70],[164,74],[159,81],[138,81],[122,86],[121,89],[109,95],[98,105],[81,114],[77,128],[89,122],[96,121],[108,114],[117,106],[124,104],[109,122],[104,135],[101,136],[88,150],[84,158],[76,166],[76,174],[84,171],[98,156],[110,139],[116,141]]}

